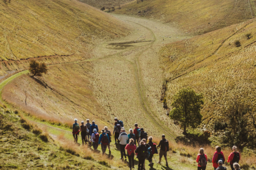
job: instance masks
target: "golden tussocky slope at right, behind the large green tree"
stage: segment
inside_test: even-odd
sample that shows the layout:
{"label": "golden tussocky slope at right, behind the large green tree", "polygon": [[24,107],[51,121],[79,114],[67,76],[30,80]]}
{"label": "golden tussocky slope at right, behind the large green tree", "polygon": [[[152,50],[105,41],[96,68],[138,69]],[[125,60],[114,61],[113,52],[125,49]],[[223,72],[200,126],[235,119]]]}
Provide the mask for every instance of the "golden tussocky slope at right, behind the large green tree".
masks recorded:
{"label": "golden tussocky slope at right, behind the large green tree", "polygon": [[[248,33],[252,38],[245,36]],[[241,46],[236,47],[235,40]],[[254,103],[255,47],[255,20],[164,46],[159,53],[168,82],[168,106],[173,95],[183,87],[190,86],[203,93],[202,127],[208,128],[221,121],[221,109],[232,97]]]}

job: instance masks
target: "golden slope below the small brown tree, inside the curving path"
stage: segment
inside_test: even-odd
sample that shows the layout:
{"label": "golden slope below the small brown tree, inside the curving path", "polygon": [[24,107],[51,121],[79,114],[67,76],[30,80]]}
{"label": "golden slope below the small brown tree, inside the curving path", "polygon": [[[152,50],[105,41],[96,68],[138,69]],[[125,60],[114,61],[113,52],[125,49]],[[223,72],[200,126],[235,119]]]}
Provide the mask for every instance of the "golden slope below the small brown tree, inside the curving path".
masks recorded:
{"label": "golden slope below the small brown tree, inside the curving path", "polygon": [[78,118],[79,121],[97,120],[97,124],[101,124],[106,112],[93,95],[92,64],[81,62],[49,68],[41,80],[27,75],[14,79],[4,88],[3,99],[45,120],[68,123]]}

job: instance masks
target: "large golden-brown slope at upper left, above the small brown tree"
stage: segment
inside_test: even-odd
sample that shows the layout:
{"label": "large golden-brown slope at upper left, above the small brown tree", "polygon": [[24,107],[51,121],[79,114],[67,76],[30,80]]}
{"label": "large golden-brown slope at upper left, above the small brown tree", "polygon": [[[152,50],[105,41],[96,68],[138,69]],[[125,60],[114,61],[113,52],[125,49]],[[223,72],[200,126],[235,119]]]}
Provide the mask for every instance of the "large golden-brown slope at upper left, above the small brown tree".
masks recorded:
{"label": "large golden-brown slope at upper left, above the small brown tree", "polygon": [[127,33],[125,24],[76,0],[0,1],[2,60],[84,56],[97,39]]}

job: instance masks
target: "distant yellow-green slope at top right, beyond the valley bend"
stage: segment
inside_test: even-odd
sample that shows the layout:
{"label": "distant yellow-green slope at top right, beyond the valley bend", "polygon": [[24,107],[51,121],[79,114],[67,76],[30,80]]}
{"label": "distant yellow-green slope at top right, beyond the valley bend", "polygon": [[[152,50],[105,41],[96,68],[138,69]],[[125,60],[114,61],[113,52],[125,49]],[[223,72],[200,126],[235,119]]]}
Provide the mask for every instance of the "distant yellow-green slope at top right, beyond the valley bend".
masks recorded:
{"label": "distant yellow-green slope at top right, beyond the valley bend", "polygon": [[[115,13],[145,16],[178,24],[185,32],[202,34],[256,16],[255,1],[144,0],[134,1]],[[157,27],[157,25],[156,25]]]}

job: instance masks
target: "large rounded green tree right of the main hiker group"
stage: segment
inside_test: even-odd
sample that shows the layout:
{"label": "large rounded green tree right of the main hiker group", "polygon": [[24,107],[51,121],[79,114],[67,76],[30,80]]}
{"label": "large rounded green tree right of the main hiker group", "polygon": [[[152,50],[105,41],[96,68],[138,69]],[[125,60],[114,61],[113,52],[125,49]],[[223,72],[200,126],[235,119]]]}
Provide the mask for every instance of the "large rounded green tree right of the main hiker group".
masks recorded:
{"label": "large rounded green tree right of the main hiker group", "polygon": [[202,123],[200,111],[203,104],[202,94],[196,94],[190,87],[181,89],[173,96],[170,119],[178,120],[186,134],[186,127],[195,128]]}

